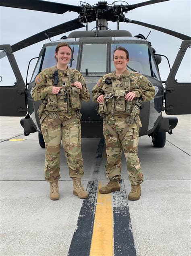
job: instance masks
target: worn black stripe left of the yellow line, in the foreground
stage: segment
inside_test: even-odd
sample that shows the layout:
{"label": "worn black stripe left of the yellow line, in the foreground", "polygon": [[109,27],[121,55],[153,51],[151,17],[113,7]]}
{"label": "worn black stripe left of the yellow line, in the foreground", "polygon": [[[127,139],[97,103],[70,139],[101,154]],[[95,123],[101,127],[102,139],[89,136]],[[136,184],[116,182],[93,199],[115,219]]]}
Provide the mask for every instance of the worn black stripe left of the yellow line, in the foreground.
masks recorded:
{"label": "worn black stripe left of the yellow line, in the foreground", "polygon": [[74,232],[68,255],[88,256],[91,248],[93,224],[96,212],[98,181],[87,183],[88,198],[83,200],[79,213],[77,228]]}

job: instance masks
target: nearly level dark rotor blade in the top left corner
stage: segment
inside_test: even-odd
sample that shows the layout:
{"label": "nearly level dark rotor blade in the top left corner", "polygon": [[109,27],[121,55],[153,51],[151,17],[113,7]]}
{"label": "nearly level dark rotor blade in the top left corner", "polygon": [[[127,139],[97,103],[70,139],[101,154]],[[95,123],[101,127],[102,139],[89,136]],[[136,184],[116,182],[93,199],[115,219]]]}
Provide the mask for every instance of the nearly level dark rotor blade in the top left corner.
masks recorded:
{"label": "nearly level dark rotor blade in the top left corner", "polygon": [[0,0],[0,6],[21,8],[28,10],[38,10],[42,12],[52,12],[62,14],[67,11],[79,12],[81,7],[70,4],[60,4],[43,0]]}

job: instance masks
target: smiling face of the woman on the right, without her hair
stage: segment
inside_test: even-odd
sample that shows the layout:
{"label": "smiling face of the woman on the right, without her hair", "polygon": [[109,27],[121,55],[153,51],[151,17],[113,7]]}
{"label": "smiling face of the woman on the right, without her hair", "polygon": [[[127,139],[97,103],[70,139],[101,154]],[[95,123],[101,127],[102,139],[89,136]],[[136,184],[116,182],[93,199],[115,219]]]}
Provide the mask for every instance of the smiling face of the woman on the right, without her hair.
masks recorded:
{"label": "smiling face of the woman on the right, without her hair", "polygon": [[129,59],[127,59],[126,53],[122,50],[116,50],[113,56],[114,66],[116,70],[125,70]]}

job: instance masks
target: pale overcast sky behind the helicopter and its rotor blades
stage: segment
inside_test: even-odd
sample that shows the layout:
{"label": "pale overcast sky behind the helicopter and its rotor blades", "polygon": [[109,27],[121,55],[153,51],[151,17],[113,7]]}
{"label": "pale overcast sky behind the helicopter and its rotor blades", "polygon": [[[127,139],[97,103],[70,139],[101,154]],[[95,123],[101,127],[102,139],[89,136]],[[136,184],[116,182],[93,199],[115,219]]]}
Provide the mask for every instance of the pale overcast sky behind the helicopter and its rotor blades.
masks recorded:
{"label": "pale overcast sky behind the helicopter and its rotor blades", "polygon": [[[96,4],[98,2],[96,0],[86,1],[89,4]],[[79,1],[72,0],[52,0],[52,2],[80,5]],[[108,1],[108,4],[111,4],[112,2],[113,0]],[[128,4],[135,4],[145,2],[145,0],[128,0],[127,2]],[[121,3],[125,4],[122,1]],[[120,4],[120,2],[116,2],[116,4]],[[150,23],[179,33],[191,35],[191,0],[171,0],[168,2],[147,5],[131,10],[125,14],[125,16],[129,19]],[[15,44],[31,35],[39,33],[40,31],[54,27],[55,25],[66,21],[70,21],[77,17],[78,14],[75,12],[66,12],[60,15],[49,12],[0,7],[0,44]],[[88,25],[89,29],[92,29],[95,26],[95,22],[89,23]],[[109,22],[108,27],[110,29],[117,29],[117,24]],[[85,30],[85,28],[83,29]],[[170,65],[172,67],[182,42],[181,39],[155,31],[154,29],[129,23],[120,23],[120,29],[129,30],[133,35],[141,33],[145,35],[145,37],[147,37],[151,30],[148,41],[152,43],[152,47],[156,49],[156,53],[164,54],[169,58]],[[63,35],[68,34],[69,32],[64,33]],[[52,37],[51,40],[58,40],[61,36],[62,35]],[[37,57],[43,44],[47,42],[49,42],[48,39],[15,52],[14,55],[24,80],[29,60],[33,57]],[[187,62],[185,65],[187,66],[187,70],[190,70],[190,63]],[[168,74],[169,70],[166,60],[163,59],[159,67],[161,69],[162,79],[166,79],[165,76]]]}

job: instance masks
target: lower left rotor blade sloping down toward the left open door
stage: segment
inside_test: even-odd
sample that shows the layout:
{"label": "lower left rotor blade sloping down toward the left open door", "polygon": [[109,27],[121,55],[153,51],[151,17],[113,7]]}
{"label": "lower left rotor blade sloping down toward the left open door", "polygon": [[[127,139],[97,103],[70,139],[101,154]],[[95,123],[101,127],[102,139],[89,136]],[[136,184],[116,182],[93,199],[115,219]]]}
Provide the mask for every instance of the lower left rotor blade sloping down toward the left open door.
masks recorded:
{"label": "lower left rotor blade sloping down toward the left open door", "polygon": [[[78,19],[74,19],[71,21],[67,21],[65,23],[62,23],[60,25],[57,25],[55,27],[51,27],[49,29],[46,29],[40,33],[37,33],[35,35],[32,35],[31,37],[28,37],[20,42],[18,42],[17,44],[13,44],[12,47],[12,51],[16,52],[18,50],[21,50],[27,46],[31,46],[32,44],[36,44],[42,40],[47,39],[48,37],[53,37],[55,35],[60,35],[62,33],[65,32],[69,32],[75,29],[79,29],[81,27],[85,27],[85,25],[83,25],[82,23],[80,23],[78,21]],[[45,33],[48,35],[45,35]]]}

